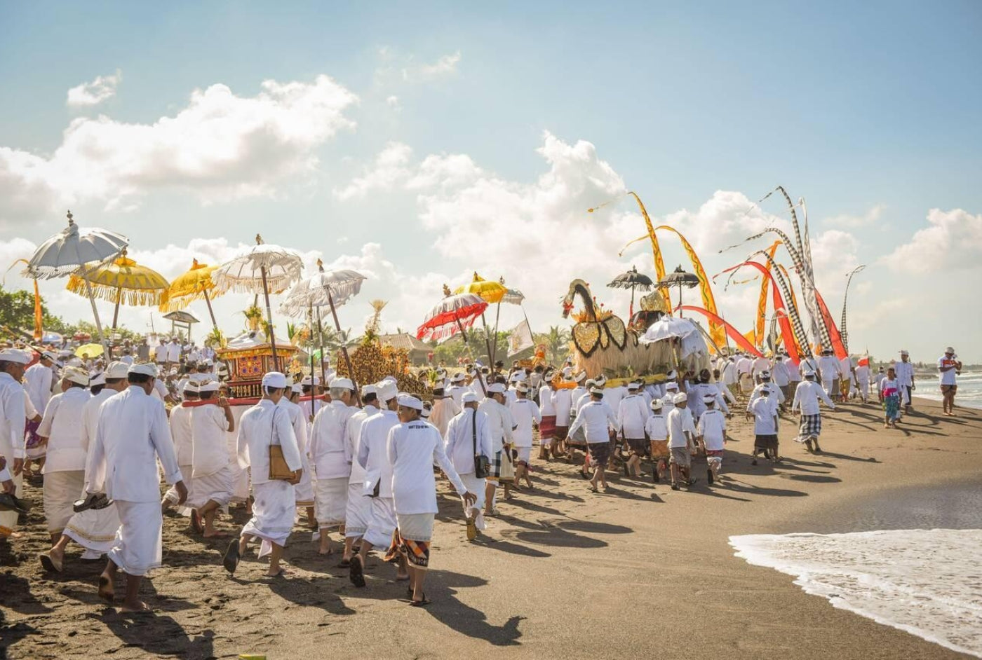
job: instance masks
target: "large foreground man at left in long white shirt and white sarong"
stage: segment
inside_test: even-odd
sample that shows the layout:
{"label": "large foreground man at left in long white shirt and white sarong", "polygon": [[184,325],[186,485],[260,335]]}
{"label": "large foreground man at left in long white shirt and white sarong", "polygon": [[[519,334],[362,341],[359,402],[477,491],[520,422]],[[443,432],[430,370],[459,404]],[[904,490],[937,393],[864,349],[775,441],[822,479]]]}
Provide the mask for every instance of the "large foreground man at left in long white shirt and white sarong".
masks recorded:
{"label": "large foreground man at left in long white shirt and white sarong", "polygon": [[109,562],[99,577],[99,596],[113,602],[116,572],[122,570],[127,577],[125,611],[149,609],[139,599],[139,584],[147,571],[160,566],[163,518],[157,460],[164,480],[180,493],[178,504],[188,497],[164,404],[150,396],[156,375],[154,365],[133,365],[127,374],[130,386],[102,404],[91,448],[93,468],[86,475],[93,481],[85,484],[85,492],[104,492],[115,501],[120,517]]}

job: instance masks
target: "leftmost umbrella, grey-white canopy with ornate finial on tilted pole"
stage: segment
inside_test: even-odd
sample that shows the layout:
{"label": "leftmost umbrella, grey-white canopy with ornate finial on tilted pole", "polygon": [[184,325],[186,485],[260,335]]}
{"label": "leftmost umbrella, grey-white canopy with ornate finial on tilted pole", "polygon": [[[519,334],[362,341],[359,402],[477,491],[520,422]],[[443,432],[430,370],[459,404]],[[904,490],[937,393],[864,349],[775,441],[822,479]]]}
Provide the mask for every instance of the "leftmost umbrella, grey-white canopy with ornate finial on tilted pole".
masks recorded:
{"label": "leftmost umbrella, grey-white canopy with ornate finial on tilted pole", "polygon": [[104,346],[105,336],[88,273],[118,257],[129,244],[130,239],[116,231],[94,227],[80,229],[69,211],[68,227],[41,243],[27,262],[25,273],[33,279],[67,278],[71,275],[82,278],[88,302],[92,305],[95,328]]}

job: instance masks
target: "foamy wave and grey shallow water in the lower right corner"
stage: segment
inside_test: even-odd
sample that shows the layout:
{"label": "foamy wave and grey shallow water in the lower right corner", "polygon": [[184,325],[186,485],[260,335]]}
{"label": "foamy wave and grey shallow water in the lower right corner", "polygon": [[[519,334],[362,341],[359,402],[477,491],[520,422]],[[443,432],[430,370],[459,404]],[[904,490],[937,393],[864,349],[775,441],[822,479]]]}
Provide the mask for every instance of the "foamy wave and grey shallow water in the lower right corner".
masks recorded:
{"label": "foamy wave and grey shallow water in the lower right corner", "polygon": [[887,491],[845,507],[816,532],[730,544],[835,607],[982,658],[979,484]]}

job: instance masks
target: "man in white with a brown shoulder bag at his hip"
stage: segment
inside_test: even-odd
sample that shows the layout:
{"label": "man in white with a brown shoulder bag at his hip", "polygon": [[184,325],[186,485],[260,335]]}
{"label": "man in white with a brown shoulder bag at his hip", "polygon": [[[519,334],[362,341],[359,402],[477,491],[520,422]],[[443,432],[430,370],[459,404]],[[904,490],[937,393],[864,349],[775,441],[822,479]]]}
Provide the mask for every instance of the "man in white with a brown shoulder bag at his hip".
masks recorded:
{"label": "man in white with a brown shoulder bag at his hip", "polygon": [[[259,557],[269,555],[266,575],[284,575],[280,568],[283,548],[294,529],[297,517],[297,495],[294,484],[300,482],[302,464],[297,436],[290,423],[290,414],[276,404],[287,388],[287,377],[280,372],[268,372],[262,377],[262,399],[243,413],[239,421],[240,465],[252,469],[252,517],[239,538],[229,543],[222,565],[235,573],[239,560],[253,538],[261,541]],[[283,460],[292,472],[288,479],[271,479],[270,447],[279,445]]]}

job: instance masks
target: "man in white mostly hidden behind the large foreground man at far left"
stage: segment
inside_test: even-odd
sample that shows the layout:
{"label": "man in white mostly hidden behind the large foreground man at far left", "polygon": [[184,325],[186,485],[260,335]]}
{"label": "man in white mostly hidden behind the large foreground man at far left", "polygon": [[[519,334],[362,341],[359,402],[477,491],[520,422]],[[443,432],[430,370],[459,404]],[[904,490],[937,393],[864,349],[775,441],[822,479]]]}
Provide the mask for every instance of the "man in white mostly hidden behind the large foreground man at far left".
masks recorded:
{"label": "man in white mostly hidden behind the large foreground man at far left", "polygon": [[[129,366],[126,363],[112,362],[104,373],[97,374],[89,380],[89,386],[92,390],[99,389],[99,391],[93,393],[82,406],[80,424],[82,426],[82,447],[86,451],[85,482],[96,481],[94,476],[96,468],[92,464],[91,448],[95,442],[96,432],[98,432],[99,413],[102,404],[129,386],[130,383],[127,381],[128,370]],[[190,470],[189,466],[189,472]],[[177,492],[176,488],[174,488],[174,492]],[[175,501],[178,499],[180,499],[180,495],[175,495]],[[99,559],[112,549],[116,531],[119,529],[120,517],[116,512],[116,505],[113,503],[98,509],[88,508],[75,513],[69,519],[65,531],[62,532],[61,538],[58,539],[54,547],[41,554],[41,566],[46,571],[61,573],[65,561],[65,548],[73,540],[85,548],[82,552],[82,559]]]}

